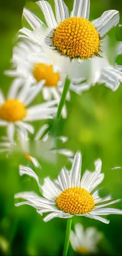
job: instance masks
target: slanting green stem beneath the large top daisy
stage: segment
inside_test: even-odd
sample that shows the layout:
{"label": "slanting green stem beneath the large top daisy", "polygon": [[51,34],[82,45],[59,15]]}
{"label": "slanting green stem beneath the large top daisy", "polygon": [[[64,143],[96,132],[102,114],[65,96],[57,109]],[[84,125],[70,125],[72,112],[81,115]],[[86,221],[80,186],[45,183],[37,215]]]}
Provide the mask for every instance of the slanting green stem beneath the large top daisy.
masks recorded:
{"label": "slanting green stem beneath the large top daisy", "polygon": [[58,120],[60,120],[61,110],[62,110],[62,108],[65,104],[65,100],[66,100],[66,96],[67,96],[69,87],[70,87],[70,80],[68,79],[68,77],[66,77],[65,83],[64,83],[64,89],[63,89],[63,92],[62,92],[62,95],[61,95],[60,103],[58,105],[58,112],[57,112]]}

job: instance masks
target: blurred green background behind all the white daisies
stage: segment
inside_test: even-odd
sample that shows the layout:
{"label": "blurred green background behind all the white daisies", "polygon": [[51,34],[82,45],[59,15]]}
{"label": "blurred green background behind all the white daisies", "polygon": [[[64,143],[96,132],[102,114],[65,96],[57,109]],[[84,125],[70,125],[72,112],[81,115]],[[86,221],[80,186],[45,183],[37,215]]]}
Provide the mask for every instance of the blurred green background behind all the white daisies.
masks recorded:
{"label": "blurred green background behind all the white daisies", "polygon": [[[35,2],[35,1],[33,1]],[[53,0],[48,1],[53,9]],[[73,1],[64,1],[71,11]],[[18,30],[28,23],[22,20],[22,9],[25,1],[5,1],[1,3],[0,10],[0,87],[6,94],[12,78],[5,77],[3,71],[10,68],[12,47],[15,45],[15,35]],[[39,7],[32,2],[26,2],[26,7],[44,20]],[[96,19],[108,9],[120,12],[122,24],[121,2],[116,0],[91,0],[90,20]],[[122,40],[122,28],[117,27],[109,33],[110,42]],[[113,49],[114,51],[114,49]],[[111,52],[112,54],[112,52]],[[121,56],[117,58],[122,64]],[[35,100],[35,103],[38,99]],[[112,92],[104,85],[96,85],[81,96],[71,92],[71,101],[67,102],[68,118],[54,120],[51,124],[51,135],[66,135],[69,140],[65,147],[82,152],[82,173],[85,169],[94,170],[94,160],[102,160],[102,172],[105,178],[100,187],[100,195],[111,194],[114,199],[122,198],[122,86]],[[44,122],[35,122],[35,130]],[[0,128],[0,135],[5,135],[5,129]],[[58,145],[61,147],[61,145]],[[48,145],[50,147],[50,145]],[[65,157],[58,156],[54,164],[46,163],[42,159],[42,171],[37,173],[40,178],[50,175],[55,178],[65,163],[70,163]],[[28,164],[23,157],[7,159],[5,154],[0,155],[0,255],[61,255],[63,251],[66,219],[54,218],[45,223],[36,210],[30,206],[14,206],[14,194],[19,191],[33,190],[39,193],[35,180],[26,176],[19,177],[18,165]],[[122,209],[122,203],[117,203]],[[76,222],[81,222],[84,228],[96,226],[104,236],[99,243],[98,255],[122,255],[122,216],[110,215],[110,224],[104,224],[85,217],[74,217],[72,229]],[[69,246],[68,255],[76,255]]]}

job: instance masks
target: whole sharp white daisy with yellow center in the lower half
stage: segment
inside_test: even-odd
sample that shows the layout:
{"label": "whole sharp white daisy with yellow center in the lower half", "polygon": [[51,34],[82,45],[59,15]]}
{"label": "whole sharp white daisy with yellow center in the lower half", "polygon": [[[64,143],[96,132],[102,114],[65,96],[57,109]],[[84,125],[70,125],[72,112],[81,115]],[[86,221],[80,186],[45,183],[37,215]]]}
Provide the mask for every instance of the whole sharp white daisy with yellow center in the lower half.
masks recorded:
{"label": "whole sharp white daisy with yellow center in the lower half", "polygon": [[35,178],[45,198],[39,197],[33,192],[17,193],[15,194],[15,198],[22,198],[26,201],[19,202],[15,206],[23,204],[31,205],[37,209],[40,215],[51,212],[44,218],[45,222],[55,217],[71,218],[78,215],[108,224],[109,220],[100,215],[122,214],[122,210],[104,208],[110,204],[119,202],[120,199],[101,204],[104,201],[111,200],[111,197],[100,198],[98,190],[93,192],[93,189],[104,178],[104,174],[101,173],[100,159],[95,161],[95,171],[85,171],[81,179],[81,153],[77,152],[71,170],[67,171],[63,168],[58,178],[54,181],[51,181],[49,177],[45,178],[43,186],[40,185],[38,176],[31,168],[20,166],[19,172],[20,175],[27,174]]}

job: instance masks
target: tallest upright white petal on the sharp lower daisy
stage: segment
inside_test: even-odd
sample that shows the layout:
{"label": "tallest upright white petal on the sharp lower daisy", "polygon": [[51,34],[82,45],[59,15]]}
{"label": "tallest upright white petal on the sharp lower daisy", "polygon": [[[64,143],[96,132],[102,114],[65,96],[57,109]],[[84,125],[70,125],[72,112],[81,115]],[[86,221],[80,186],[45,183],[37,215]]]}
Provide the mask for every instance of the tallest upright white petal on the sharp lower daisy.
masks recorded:
{"label": "tallest upright white petal on the sharp lower daisy", "polygon": [[71,187],[80,186],[81,178],[81,153],[77,152],[74,156],[72,168],[70,171]]}

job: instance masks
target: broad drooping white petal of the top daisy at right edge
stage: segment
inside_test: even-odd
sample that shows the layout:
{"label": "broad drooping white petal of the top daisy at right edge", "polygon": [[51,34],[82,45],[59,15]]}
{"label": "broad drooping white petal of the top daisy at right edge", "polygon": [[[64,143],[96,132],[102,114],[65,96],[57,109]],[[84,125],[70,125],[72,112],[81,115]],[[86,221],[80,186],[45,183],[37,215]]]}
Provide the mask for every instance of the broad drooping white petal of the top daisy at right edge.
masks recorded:
{"label": "broad drooping white petal of the top daisy at right edge", "polygon": [[113,92],[118,89],[120,82],[122,82],[122,72],[112,66],[104,68],[98,80],[98,83],[105,83],[105,86]]}

